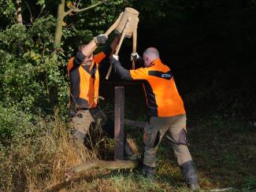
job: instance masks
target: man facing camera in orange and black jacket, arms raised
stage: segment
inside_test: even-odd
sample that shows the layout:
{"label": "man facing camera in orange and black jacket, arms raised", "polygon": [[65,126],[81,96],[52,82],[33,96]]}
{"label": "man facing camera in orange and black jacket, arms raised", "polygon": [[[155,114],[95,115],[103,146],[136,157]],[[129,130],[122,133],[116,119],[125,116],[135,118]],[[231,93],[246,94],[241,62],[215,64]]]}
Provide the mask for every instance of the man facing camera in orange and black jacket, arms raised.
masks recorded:
{"label": "man facing camera in orange and black jacket, arms raised", "polygon": [[[106,35],[98,35],[87,45],[81,45],[79,52],[68,63],[70,79],[69,110],[72,112],[72,134],[75,139],[82,143],[92,123],[100,123],[103,126],[107,120],[102,109],[98,106],[98,68],[100,68],[101,61],[105,57],[109,58],[120,37],[116,36],[111,45],[105,46],[99,54],[93,54],[96,47],[104,44],[107,39]],[[113,136],[113,130],[106,131]]]}

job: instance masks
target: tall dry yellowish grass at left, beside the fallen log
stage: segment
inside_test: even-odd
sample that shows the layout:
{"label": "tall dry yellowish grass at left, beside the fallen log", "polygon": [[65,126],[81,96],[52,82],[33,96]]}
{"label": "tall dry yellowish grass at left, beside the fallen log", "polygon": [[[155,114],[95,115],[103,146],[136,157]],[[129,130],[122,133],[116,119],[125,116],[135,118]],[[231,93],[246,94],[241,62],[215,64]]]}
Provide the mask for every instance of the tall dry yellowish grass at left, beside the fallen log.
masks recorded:
{"label": "tall dry yellowish grass at left, beside the fallen log", "polygon": [[[2,116],[3,117],[3,116]],[[38,118],[34,124],[13,122],[13,126],[33,130],[22,139],[9,139],[0,146],[0,191],[43,190],[64,180],[65,172],[75,164],[97,158],[97,150],[87,150],[72,140],[70,127],[58,115]],[[28,126],[29,125],[29,126]],[[13,127],[15,130],[16,127]],[[24,131],[19,131],[22,135]]]}

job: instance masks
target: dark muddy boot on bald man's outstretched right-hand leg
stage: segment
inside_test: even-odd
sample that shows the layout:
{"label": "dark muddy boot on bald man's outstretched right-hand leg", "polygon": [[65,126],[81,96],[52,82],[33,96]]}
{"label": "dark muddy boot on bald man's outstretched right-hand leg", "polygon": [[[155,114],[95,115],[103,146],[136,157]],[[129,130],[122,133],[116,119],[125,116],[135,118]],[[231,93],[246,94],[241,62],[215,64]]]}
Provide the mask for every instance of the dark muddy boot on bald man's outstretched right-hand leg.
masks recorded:
{"label": "dark muddy boot on bald man's outstretched right-hand leg", "polygon": [[195,172],[193,161],[187,161],[184,164],[181,164],[181,168],[185,183],[190,186],[191,190],[200,190],[200,186],[198,184],[198,175]]}

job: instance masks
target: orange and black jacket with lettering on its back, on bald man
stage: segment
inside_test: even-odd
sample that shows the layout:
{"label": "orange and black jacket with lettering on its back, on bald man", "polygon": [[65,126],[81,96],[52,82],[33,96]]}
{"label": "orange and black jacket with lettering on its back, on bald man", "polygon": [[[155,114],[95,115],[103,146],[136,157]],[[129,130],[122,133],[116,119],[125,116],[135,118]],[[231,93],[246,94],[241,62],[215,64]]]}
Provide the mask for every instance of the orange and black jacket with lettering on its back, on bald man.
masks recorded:
{"label": "orange and black jacket with lettering on its back, on bald man", "polygon": [[176,116],[185,113],[184,102],[176,89],[171,69],[160,59],[148,68],[128,71],[117,60],[111,59],[121,79],[143,80],[149,116]]}

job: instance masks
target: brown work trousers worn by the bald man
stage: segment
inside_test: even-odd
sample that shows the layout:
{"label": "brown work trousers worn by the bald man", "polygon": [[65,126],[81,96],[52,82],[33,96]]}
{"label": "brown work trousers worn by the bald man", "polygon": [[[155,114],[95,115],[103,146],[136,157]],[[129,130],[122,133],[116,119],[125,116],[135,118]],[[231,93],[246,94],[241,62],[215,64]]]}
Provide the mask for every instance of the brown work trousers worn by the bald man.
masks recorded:
{"label": "brown work trousers worn by the bald man", "polygon": [[164,135],[169,138],[178,164],[181,165],[192,160],[187,148],[186,120],[186,114],[171,117],[150,117],[143,133],[143,142],[145,144],[143,164],[152,168],[155,167],[158,146]]}

